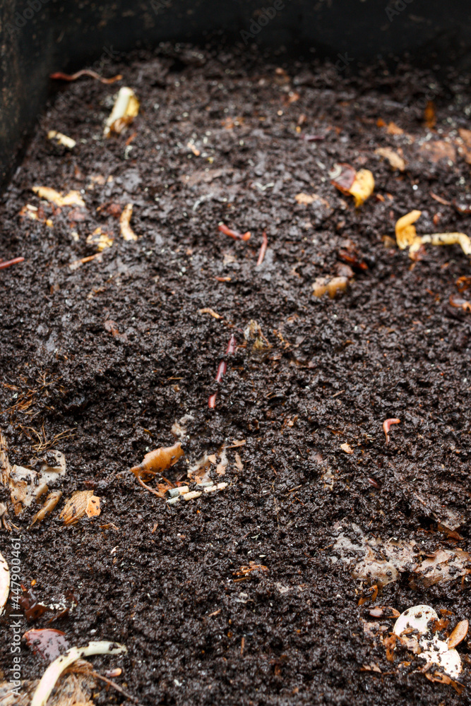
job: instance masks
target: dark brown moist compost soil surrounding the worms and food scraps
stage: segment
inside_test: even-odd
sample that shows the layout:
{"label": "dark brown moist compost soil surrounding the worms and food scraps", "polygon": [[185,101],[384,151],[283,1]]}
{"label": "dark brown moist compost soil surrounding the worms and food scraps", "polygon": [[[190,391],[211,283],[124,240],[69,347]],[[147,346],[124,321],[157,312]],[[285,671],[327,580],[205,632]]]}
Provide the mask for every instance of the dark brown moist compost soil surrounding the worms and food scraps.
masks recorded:
{"label": "dark brown moist compost soil surrounding the worms and food scraps", "polygon": [[[76,603],[21,618],[21,630],[123,643],[124,657],[90,659],[102,674],[121,666],[115,681],[141,704],[471,702],[467,639],[458,695],[405,646],[386,659],[394,621],[369,616],[429,604],[449,621],[441,637],[470,617],[466,568],[452,558],[436,570],[447,580],[417,573],[437,550],[471,549],[471,314],[449,304],[469,261],[458,245],[412,261],[394,227],[419,209],[419,234],[471,232],[471,92],[405,64],[395,76],[356,68],[183,46],[105,64],[120,83],[59,84],[4,193],[0,255],[25,261],[0,270],[0,426],[12,464],[56,449],[67,469],[50,488],[59,505],[30,529],[38,505],[16,517],[2,490],[19,529],[2,530],[1,551],[10,563],[20,537],[25,589]],[[121,85],[141,110],[107,139]],[[375,153],[386,147],[402,172]],[[360,208],[331,184],[337,162],[374,174]],[[76,190],[85,206],[59,208],[33,186]],[[129,203],[137,241],[121,237]],[[36,220],[20,215],[27,204]],[[97,228],[112,246],[77,262],[97,253]],[[339,273],[347,291],[313,296],[316,277]],[[390,418],[400,424],[386,445]],[[168,505],[138,483],[129,469],[176,433],[184,457],[165,479],[188,481],[207,454],[200,479],[225,489]],[[101,514],[66,526],[59,513],[78,490],[94,491]],[[361,542],[403,543],[410,561],[388,566],[396,580],[365,577],[351,548]],[[24,641],[21,659],[22,678],[40,678],[47,662]],[[125,699],[102,684],[93,700]]]}

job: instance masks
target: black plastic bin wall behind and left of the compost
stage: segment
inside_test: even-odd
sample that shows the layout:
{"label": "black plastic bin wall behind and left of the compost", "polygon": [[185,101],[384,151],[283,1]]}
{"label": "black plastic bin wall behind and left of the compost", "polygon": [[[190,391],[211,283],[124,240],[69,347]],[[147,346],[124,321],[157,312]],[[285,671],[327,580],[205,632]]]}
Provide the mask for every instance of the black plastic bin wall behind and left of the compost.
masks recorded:
{"label": "black plastic bin wall behind and left of the compost", "polygon": [[[47,97],[49,73],[162,41],[257,43],[331,61],[409,52],[469,68],[469,0],[1,0],[0,186]],[[340,55],[340,57],[339,57]]]}

